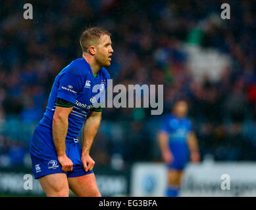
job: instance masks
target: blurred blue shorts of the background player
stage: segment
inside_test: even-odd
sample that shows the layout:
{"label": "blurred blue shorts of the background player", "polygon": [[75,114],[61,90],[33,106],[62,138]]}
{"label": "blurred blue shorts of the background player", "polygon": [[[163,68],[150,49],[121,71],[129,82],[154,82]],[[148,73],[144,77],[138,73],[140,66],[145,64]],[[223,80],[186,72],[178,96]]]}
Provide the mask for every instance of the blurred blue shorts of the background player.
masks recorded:
{"label": "blurred blue shorts of the background player", "polygon": [[168,169],[182,171],[190,161],[190,152],[187,144],[182,142],[172,142],[169,146],[174,157],[174,161],[167,165]]}

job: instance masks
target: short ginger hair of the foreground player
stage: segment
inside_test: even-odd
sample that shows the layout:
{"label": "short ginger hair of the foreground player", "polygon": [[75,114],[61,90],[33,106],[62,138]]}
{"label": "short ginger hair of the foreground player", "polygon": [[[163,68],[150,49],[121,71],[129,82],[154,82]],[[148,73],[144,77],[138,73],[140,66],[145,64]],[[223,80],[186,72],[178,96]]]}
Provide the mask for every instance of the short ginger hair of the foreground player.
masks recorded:
{"label": "short ginger hair of the foreground player", "polygon": [[99,38],[102,37],[103,35],[111,36],[111,33],[99,27],[86,29],[80,36],[80,40],[79,40],[83,53],[88,53],[89,47],[91,45],[97,44],[97,41],[99,41]]}

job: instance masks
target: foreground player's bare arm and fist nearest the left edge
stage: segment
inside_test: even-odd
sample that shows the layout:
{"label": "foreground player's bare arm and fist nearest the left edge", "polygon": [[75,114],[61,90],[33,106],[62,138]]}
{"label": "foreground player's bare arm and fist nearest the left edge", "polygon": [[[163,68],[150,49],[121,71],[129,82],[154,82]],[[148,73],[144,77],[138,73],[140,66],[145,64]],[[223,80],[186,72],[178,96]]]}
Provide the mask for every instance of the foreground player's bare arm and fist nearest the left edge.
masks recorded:
{"label": "foreground player's bare arm and fist nearest the left edge", "polygon": [[58,155],[58,160],[61,163],[64,172],[72,171],[73,163],[66,156],[66,133],[68,131],[68,116],[73,107],[56,106],[53,116],[53,141]]}

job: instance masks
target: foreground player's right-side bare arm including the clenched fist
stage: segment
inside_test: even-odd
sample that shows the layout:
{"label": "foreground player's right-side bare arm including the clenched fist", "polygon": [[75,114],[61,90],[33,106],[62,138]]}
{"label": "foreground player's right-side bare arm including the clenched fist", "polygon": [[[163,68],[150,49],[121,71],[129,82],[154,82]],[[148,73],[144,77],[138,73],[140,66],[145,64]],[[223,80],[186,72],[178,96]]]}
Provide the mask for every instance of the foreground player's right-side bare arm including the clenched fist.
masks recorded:
{"label": "foreground player's right-side bare arm including the clenched fist", "polygon": [[98,131],[99,124],[101,123],[101,112],[90,112],[88,119],[83,127],[83,146],[81,160],[86,171],[91,171],[94,166],[94,161],[90,157],[91,144]]}

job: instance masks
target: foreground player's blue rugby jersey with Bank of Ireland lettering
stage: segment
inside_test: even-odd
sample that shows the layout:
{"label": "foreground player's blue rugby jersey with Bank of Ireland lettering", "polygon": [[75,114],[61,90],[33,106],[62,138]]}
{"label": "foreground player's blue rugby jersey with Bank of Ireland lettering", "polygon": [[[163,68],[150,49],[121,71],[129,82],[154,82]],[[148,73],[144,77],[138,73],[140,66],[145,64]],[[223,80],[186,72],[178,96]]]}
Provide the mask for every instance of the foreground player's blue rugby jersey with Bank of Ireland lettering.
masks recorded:
{"label": "foreground player's blue rugby jersey with Bank of Ireland lettering", "polygon": [[[77,138],[95,102],[103,102],[103,97],[97,99],[96,95],[105,94],[107,79],[110,79],[110,76],[105,68],[101,68],[97,77],[94,77],[90,65],[84,58],[73,60],[55,78],[46,111],[39,125],[52,129],[56,98],[62,98],[74,104],[68,116],[66,139]],[[97,93],[92,92],[94,85],[100,86]]]}

